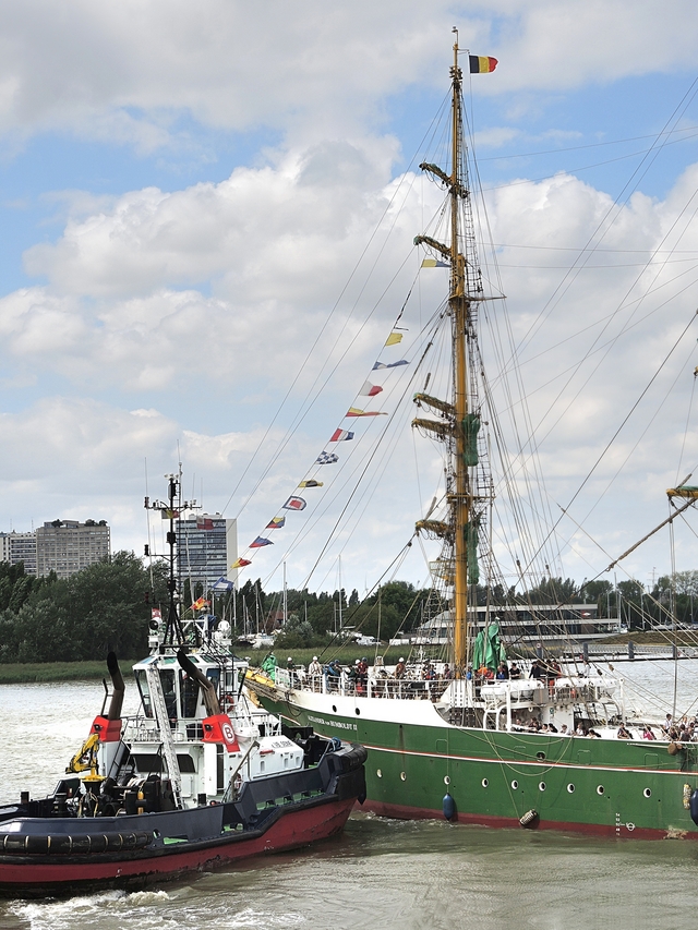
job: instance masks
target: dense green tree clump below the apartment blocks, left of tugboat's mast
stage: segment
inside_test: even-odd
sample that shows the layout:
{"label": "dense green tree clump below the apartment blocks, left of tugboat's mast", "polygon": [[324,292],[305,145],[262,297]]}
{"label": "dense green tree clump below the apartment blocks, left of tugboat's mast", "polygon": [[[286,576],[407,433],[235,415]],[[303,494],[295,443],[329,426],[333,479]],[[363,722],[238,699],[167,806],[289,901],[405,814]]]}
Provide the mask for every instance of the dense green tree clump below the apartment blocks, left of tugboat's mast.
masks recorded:
{"label": "dense green tree clump below the apartment blocks, left of tugboat's mast", "polygon": [[0,662],[103,660],[111,649],[146,654],[149,604],[167,596],[161,570],[154,582],[128,552],[68,579],[0,563]]}

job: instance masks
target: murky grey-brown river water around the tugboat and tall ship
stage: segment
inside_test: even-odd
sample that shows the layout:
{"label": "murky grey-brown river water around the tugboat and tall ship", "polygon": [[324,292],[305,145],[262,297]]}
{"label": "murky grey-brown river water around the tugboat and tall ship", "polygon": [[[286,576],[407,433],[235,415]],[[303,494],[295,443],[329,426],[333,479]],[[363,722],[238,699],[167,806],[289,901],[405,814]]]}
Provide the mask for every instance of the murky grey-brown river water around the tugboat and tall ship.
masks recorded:
{"label": "murky grey-brown river water around the tugboat and tall ship", "polygon": [[[654,692],[671,693],[672,663],[616,671],[636,703],[661,716],[671,710],[671,699],[661,703]],[[698,697],[698,662],[678,663],[678,695],[684,712]],[[96,683],[0,686],[0,799],[52,789],[100,705]],[[340,837],[186,883],[3,902],[0,930],[122,930],[127,921],[139,930],[693,930],[697,877],[694,843],[354,813]]]}

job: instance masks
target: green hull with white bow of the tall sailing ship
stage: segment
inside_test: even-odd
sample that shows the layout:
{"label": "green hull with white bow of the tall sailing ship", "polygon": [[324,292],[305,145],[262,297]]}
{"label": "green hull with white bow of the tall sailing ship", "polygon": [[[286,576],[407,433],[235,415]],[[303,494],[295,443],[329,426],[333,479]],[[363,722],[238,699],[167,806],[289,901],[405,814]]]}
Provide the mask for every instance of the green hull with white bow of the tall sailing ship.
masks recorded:
{"label": "green hull with white bow of the tall sailing ship", "polygon": [[[324,736],[361,742],[366,799],[362,810],[397,819],[444,817],[453,822],[521,829],[529,811],[534,829],[614,838],[698,840],[688,798],[698,788],[698,747],[676,756],[663,741],[609,740],[526,734],[370,718],[372,699],[347,699],[353,715],[329,711],[321,696],[299,700],[257,693],[289,726],[313,726]],[[385,705],[389,701],[377,701]],[[416,702],[417,705],[429,702]],[[337,702],[335,702],[337,706]],[[430,708],[434,716],[435,709]],[[418,706],[423,716],[423,706]]]}

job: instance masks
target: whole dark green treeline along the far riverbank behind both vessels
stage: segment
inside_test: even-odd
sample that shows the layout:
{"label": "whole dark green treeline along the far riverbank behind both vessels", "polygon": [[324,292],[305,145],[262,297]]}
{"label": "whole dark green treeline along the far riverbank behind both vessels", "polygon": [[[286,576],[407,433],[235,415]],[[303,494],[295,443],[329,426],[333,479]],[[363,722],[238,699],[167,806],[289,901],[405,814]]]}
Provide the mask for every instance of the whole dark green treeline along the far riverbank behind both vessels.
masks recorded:
{"label": "whole dark green treeline along the far riverbank behind both vessels", "polygon": [[[123,657],[147,653],[151,608],[167,604],[166,568],[154,575],[133,553],[119,552],[65,580],[26,575],[24,566],[0,563],[0,663],[101,661],[109,650]],[[183,594],[184,618],[204,593],[201,587]],[[190,600],[191,596],[191,600]],[[277,630],[281,626],[282,592],[267,593],[260,579],[237,592],[216,595],[213,611],[234,623],[236,636]],[[478,587],[479,605],[496,609],[513,604],[595,604],[600,617],[619,617],[633,629],[658,624],[698,623],[698,571],[662,576],[645,589],[634,580],[617,587],[606,580],[578,583],[542,578],[527,591]],[[279,649],[329,643],[340,628],[385,642],[398,631],[410,632],[450,604],[430,589],[392,581],[363,600],[346,591],[287,591],[288,621],[276,640]],[[694,611],[695,608],[695,611]]]}

